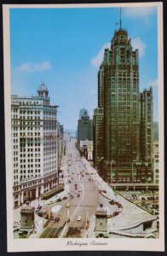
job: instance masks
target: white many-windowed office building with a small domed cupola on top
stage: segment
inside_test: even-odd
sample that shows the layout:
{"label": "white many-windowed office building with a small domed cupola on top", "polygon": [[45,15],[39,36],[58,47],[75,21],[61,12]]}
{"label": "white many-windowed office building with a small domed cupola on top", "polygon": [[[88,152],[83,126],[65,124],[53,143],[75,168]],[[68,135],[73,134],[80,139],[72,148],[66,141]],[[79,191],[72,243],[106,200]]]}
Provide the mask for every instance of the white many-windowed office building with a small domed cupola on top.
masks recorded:
{"label": "white many-windowed office building with a small domed cupola on top", "polygon": [[14,207],[54,193],[57,185],[57,106],[45,84],[37,96],[11,97]]}

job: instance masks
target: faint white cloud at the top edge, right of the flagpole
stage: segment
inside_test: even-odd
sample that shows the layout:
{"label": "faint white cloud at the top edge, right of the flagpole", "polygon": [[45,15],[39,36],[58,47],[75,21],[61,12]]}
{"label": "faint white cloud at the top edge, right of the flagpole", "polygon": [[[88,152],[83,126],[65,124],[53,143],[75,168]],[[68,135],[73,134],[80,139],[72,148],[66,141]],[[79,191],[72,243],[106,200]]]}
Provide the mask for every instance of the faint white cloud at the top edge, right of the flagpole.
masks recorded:
{"label": "faint white cloud at the top edge, right of the flagpole", "polygon": [[153,15],[155,12],[155,8],[153,7],[131,7],[124,9],[124,15],[131,19],[144,19],[148,20],[148,18]]}

